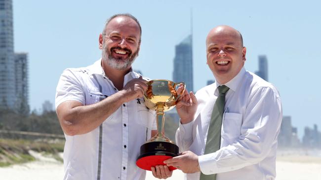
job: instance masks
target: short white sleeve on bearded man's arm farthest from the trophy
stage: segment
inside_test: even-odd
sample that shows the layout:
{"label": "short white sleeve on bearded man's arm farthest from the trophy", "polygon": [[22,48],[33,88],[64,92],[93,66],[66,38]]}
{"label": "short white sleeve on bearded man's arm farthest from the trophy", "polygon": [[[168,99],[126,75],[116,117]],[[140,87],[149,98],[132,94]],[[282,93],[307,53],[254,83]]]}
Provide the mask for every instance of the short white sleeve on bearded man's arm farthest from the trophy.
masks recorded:
{"label": "short white sleeve on bearded man's arm farthest from the trophy", "polygon": [[81,83],[81,78],[77,77],[71,69],[66,69],[61,74],[57,85],[55,98],[56,109],[59,104],[69,100],[79,101],[85,105],[85,91]]}

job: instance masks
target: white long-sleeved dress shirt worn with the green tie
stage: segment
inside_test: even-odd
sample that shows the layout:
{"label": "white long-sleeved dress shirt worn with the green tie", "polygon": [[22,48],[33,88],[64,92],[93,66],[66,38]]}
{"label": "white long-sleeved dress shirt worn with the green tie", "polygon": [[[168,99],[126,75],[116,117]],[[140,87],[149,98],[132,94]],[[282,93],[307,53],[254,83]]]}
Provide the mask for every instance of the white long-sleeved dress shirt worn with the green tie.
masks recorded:
{"label": "white long-sleeved dress shirt worn with the green tie", "polygon": [[[225,85],[230,90],[225,98],[220,150],[204,155],[220,86],[214,83],[196,93],[199,105],[194,120],[179,125],[176,142],[180,151],[199,155],[201,172],[217,174],[216,180],[274,180],[282,119],[279,92],[244,68]],[[200,174],[185,176],[187,180],[199,180]]]}

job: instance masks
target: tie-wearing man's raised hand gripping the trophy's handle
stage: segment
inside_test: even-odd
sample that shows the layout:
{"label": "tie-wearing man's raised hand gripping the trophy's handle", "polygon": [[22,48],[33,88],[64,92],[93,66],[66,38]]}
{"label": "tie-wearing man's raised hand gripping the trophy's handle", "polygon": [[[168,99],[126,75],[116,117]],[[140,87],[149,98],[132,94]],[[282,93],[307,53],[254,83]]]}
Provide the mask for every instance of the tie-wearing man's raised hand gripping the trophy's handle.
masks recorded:
{"label": "tie-wearing man's raised hand gripping the trophy's handle", "polygon": [[[183,86],[180,86],[177,89],[177,93],[180,94],[182,90]],[[184,90],[183,94],[178,98],[178,102],[176,104],[177,114],[181,118],[182,124],[189,123],[194,119],[197,105],[198,103],[194,93],[192,91],[188,93],[187,90]]]}

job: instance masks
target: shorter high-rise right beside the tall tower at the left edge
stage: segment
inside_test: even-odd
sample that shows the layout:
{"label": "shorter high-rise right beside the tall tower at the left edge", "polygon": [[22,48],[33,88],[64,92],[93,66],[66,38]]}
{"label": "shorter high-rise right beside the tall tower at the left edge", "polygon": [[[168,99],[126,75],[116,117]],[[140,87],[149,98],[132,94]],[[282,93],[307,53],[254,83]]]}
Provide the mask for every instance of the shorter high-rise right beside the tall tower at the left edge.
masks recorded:
{"label": "shorter high-rise right beside the tall tower at the left edge", "polygon": [[28,103],[28,54],[15,53],[16,109],[21,114],[29,113]]}

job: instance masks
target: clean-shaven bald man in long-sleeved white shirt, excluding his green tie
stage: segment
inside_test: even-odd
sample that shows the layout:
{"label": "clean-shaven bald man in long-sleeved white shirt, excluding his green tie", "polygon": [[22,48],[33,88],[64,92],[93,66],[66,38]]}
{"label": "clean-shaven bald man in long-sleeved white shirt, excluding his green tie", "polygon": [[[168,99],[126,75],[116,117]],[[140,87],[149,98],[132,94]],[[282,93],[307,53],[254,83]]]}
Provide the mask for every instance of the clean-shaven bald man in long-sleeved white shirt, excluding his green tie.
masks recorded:
{"label": "clean-shaven bald man in long-sleeved white shirt, excluding his green tie", "polygon": [[[206,38],[206,54],[216,82],[195,95],[185,91],[176,106],[181,118],[176,142],[183,154],[164,162],[187,173],[187,180],[199,180],[201,173],[216,174],[216,180],[274,180],[282,119],[278,90],[244,69],[246,48],[238,30],[229,26],[212,29]],[[211,113],[222,85],[229,90],[220,149],[204,154]]]}

